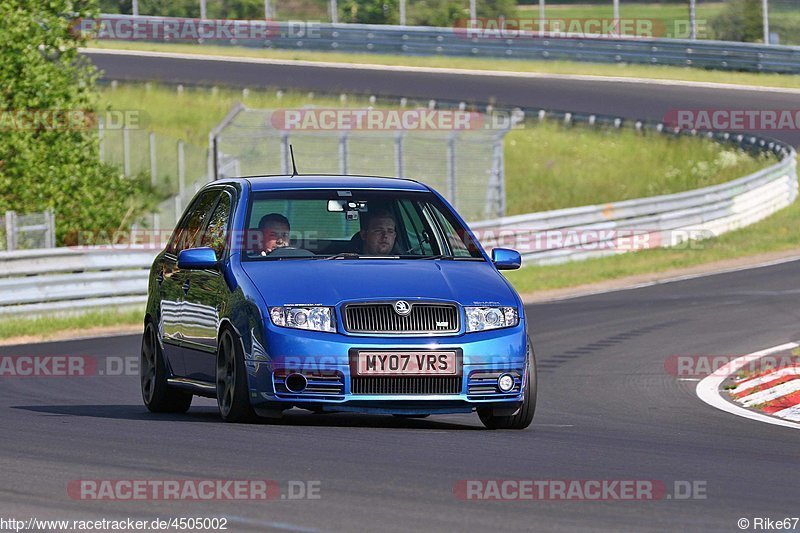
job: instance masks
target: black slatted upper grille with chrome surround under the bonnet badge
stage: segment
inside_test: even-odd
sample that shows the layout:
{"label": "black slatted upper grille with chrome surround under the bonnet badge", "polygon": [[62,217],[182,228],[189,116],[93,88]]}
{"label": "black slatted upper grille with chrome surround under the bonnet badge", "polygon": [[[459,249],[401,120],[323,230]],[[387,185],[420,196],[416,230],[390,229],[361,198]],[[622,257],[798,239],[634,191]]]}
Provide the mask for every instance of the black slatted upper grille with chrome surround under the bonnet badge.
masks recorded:
{"label": "black slatted upper grille with chrome surround under the bonnet badge", "polygon": [[402,316],[394,303],[351,304],[344,310],[344,328],[351,333],[458,333],[458,308],[448,304],[412,303]]}

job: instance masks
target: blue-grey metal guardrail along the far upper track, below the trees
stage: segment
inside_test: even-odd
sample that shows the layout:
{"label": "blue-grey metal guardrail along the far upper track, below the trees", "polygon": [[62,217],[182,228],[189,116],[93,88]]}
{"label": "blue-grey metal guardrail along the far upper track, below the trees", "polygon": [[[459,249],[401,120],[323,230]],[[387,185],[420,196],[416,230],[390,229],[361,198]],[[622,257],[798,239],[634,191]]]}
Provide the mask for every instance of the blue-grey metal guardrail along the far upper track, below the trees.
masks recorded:
{"label": "blue-grey metal guardrail along the far upper track, below the trees", "polygon": [[[191,20],[191,19],[189,19]],[[203,39],[165,38],[165,24],[183,28],[187,19],[169,17],[100,16],[106,26],[127,28],[106,32],[110,40],[156,42],[209,42],[258,48],[320,50],[404,55],[442,55],[487,58],[571,60],[597,63],[673,65],[751,72],[800,73],[800,46],[763,45],[729,41],[585,36],[539,32],[517,32],[503,37],[466,28],[390,26],[374,24],[323,24],[296,22],[237,21],[252,25],[240,37]],[[195,23],[200,23],[197,20]],[[209,21],[210,22],[210,21]],[[134,31],[137,25],[140,31]],[[265,28],[266,24],[266,29]],[[121,25],[121,26],[120,26]],[[86,28],[90,28],[87,25]],[[130,34],[130,37],[127,37]],[[241,35],[245,38],[242,38]],[[102,33],[99,34],[102,38]],[[191,33],[190,33],[191,35]],[[254,35],[258,37],[246,38]],[[218,36],[217,36],[218,37]]]}

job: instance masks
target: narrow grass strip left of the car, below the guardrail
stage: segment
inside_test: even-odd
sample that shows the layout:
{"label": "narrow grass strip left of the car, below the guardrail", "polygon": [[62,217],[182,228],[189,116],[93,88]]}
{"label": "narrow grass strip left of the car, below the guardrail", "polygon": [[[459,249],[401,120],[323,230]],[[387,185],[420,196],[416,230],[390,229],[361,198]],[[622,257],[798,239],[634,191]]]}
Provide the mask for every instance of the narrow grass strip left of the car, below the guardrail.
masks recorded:
{"label": "narrow grass strip left of the car, below the guardrail", "polygon": [[47,316],[40,318],[8,318],[0,322],[0,339],[19,336],[47,337],[66,330],[129,326],[141,324],[142,309],[91,311],[81,315]]}

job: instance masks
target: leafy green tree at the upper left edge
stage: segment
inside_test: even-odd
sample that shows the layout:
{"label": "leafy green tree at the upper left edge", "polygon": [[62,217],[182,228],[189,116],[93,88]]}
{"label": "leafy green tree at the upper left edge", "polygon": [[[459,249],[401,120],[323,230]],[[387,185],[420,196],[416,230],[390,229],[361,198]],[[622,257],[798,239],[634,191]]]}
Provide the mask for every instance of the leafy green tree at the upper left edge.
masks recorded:
{"label": "leafy green tree at the upper left edge", "polygon": [[[127,229],[151,208],[145,179],[99,158],[97,73],[78,54],[89,2],[0,2],[0,213],[53,208],[56,237]],[[78,117],[78,119],[75,119]],[[34,120],[35,119],[35,120]]]}

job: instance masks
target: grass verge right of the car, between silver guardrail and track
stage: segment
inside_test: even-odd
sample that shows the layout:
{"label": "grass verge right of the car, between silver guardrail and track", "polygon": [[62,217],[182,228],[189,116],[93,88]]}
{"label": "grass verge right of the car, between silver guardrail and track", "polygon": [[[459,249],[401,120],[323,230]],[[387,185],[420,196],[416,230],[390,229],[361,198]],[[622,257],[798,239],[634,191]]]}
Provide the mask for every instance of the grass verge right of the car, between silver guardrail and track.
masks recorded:
{"label": "grass verge right of the car, between silver guardrail and track", "polygon": [[636,274],[664,272],[766,252],[800,250],[800,202],[746,228],[682,248],[641,250],[617,256],[507,273],[523,293],[573,287]]}

